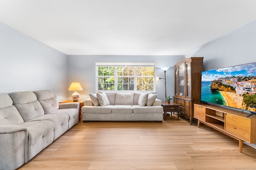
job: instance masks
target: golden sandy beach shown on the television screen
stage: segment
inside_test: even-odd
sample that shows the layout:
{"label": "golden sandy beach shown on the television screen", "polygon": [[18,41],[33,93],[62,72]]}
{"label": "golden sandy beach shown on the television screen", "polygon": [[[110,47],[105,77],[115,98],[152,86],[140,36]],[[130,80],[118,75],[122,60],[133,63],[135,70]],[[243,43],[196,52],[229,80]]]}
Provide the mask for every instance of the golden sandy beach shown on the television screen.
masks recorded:
{"label": "golden sandy beach shown on the television screen", "polygon": [[232,93],[232,92],[225,92],[225,91],[220,91],[220,92],[228,102],[228,106],[236,107],[236,108],[242,107],[242,102],[243,102],[242,96],[239,96],[238,94]]}

